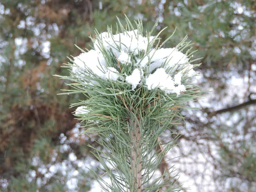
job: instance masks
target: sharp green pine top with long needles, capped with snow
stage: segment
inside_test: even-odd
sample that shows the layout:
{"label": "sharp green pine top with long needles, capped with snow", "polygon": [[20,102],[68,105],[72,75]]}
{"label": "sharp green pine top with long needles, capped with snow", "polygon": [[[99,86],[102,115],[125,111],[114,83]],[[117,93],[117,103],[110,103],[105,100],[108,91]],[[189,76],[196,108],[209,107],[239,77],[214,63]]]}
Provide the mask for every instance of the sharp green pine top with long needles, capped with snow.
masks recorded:
{"label": "sharp green pine top with long needles, capped with snow", "polygon": [[[111,28],[96,32],[94,48],[81,49],[67,65],[70,76],[60,77],[75,82],[68,84],[72,89],[66,94],[86,96],[72,106],[81,105],[76,115],[86,131],[99,136],[97,143],[103,149],[92,147],[93,154],[111,179],[108,184],[99,177],[103,191],[180,191],[183,188],[174,184],[177,175],[171,177],[170,170],[153,176],[175,146],[178,133],[172,125],[183,119],[180,109],[203,93],[191,83],[195,71],[190,62],[197,59],[191,59],[191,49],[181,52],[190,45],[186,38],[165,49],[172,35],[160,44],[161,32],[151,36],[157,23],[146,37],[142,21],[135,23],[137,29],[126,17],[126,26],[119,21],[115,35]],[[163,143],[160,136],[166,130],[170,131],[166,137],[174,135],[174,139]]]}

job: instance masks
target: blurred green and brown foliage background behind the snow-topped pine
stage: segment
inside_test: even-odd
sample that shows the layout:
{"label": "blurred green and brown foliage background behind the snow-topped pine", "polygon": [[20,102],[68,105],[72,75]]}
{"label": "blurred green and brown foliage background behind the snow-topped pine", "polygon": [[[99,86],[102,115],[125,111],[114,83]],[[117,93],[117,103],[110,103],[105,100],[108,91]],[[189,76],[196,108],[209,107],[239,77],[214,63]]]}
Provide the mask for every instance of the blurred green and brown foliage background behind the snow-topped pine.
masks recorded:
{"label": "blurred green and brown foliage background behind the snow-topped pine", "polygon": [[[96,135],[79,135],[69,104],[58,96],[67,56],[90,49],[94,29],[140,18],[174,47],[185,35],[201,58],[196,83],[213,90],[183,111],[185,130],[172,151],[180,183],[192,192],[256,191],[256,2],[254,0],[1,0],[0,191],[88,192],[97,160]],[[157,33],[156,31],[156,33]],[[188,155],[189,154],[189,155]],[[176,156],[176,157],[177,157]],[[173,156],[169,157],[173,158]],[[168,157],[166,157],[168,159]],[[179,166],[180,165],[180,166]],[[175,166],[176,168],[176,166]],[[102,172],[99,172],[101,175]],[[96,189],[92,189],[96,191]]]}

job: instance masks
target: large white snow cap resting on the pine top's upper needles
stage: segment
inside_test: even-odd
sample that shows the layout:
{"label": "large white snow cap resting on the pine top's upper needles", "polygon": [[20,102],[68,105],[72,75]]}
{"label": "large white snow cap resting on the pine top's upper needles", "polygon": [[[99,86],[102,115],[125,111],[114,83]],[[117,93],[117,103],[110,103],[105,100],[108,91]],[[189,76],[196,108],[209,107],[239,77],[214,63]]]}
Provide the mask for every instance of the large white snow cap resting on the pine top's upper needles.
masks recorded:
{"label": "large white snow cap resting on the pine top's upper needles", "polygon": [[[138,30],[126,31],[113,35],[111,32],[103,32],[96,36],[93,42],[94,49],[81,53],[74,58],[72,72],[80,80],[86,80],[87,76],[96,74],[99,78],[113,81],[126,81],[134,90],[138,85],[145,85],[149,90],[160,89],[167,94],[176,93],[177,96],[186,91],[181,81],[184,76],[195,75],[193,65],[183,52],[174,48],[154,48],[154,36],[143,37]],[[131,65],[134,70],[130,76],[121,75],[119,66],[113,66],[111,59],[105,59],[102,52],[113,52],[113,59],[120,64]],[[109,57],[109,54],[108,56]],[[131,58],[133,60],[131,61]],[[134,61],[134,62],[133,62]],[[109,67],[111,66],[111,67]],[[127,74],[128,72],[122,73]],[[146,81],[141,81],[144,79]],[[183,81],[186,83],[186,81]],[[84,81],[93,86],[99,85],[95,79]]]}

